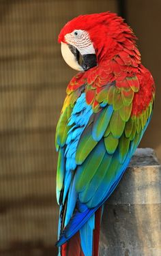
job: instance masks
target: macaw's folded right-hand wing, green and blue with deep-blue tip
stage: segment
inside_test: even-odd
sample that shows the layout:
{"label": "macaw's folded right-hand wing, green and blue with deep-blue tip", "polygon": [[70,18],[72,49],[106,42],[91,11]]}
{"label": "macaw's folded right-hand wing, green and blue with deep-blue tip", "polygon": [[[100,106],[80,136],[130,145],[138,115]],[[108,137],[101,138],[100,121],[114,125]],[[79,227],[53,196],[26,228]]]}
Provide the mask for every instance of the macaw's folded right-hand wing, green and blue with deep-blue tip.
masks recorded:
{"label": "macaw's folded right-hand wing, green and blue with deep-blue tip", "polygon": [[[116,82],[104,85],[95,94],[95,102],[86,87],[86,100],[93,104],[93,113],[76,147],[77,167],[72,183],[63,184],[61,180],[63,186],[71,186],[65,214],[68,211],[71,214],[71,206],[74,213],[61,233],[58,246],[69,240],[111,195],[149,124],[153,99],[140,115],[132,116],[138,79],[134,76],[127,81],[130,86],[119,89]],[[94,113],[97,105],[102,109]],[[60,158],[61,155],[64,157],[60,154]]]}

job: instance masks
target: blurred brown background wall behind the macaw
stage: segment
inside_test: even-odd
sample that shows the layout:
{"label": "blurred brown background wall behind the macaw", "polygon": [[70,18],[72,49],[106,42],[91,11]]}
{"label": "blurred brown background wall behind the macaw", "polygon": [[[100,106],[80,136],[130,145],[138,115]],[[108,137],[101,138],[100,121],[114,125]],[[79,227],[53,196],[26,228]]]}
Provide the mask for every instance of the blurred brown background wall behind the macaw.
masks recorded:
{"label": "blurred brown background wall behind the macaw", "polygon": [[0,0],[0,255],[57,255],[55,126],[75,74],[57,35],[74,16],[107,10],[134,29],[156,81],[141,147],[161,158],[160,0]]}

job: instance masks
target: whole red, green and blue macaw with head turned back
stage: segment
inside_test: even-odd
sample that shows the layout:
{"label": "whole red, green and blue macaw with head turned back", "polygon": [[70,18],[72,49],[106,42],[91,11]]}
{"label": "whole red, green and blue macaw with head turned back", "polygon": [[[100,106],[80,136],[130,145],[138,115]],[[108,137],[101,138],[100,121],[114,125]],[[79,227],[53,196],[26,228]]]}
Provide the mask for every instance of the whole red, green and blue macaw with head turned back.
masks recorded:
{"label": "whole red, green and blue macaw with head turned back", "polygon": [[132,29],[117,14],[81,15],[59,33],[68,84],[57,124],[61,256],[98,256],[104,203],[151,119],[155,85]]}

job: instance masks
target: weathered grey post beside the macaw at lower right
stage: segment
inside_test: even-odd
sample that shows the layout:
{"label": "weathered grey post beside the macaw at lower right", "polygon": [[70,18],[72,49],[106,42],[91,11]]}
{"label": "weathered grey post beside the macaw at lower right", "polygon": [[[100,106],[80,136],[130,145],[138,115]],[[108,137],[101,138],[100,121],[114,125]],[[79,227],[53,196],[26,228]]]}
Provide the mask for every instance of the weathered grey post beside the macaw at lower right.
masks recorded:
{"label": "weathered grey post beside the macaw at lower right", "polygon": [[160,171],[153,150],[136,151],[105,205],[100,256],[161,255]]}

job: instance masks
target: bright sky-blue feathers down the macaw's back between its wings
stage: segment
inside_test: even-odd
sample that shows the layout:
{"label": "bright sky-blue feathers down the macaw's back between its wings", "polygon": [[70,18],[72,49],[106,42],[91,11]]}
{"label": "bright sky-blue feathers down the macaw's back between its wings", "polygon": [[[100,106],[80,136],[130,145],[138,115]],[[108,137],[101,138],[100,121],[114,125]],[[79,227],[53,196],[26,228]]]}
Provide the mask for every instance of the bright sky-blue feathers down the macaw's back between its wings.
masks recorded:
{"label": "bright sky-blue feathers down the macaw's back between its wings", "polygon": [[[81,115],[79,116],[78,113],[81,113]],[[65,142],[66,148],[64,153],[65,175],[63,175],[63,203],[65,202],[65,199],[68,195],[67,210],[65,214],[65,225],[68,224],[68,221],[70,221],[70,218],[72,217],[77,200],[75,180],[72,179],[72,172],[74,169],[76,169],[76,147],[78,145],[78,140],[80,139],[81,134],[85,129],[85,126],[87,126],[87,123],[89,122],[89,118],[91,117],[92,113],[93,111],[91,110],[91,106],[88,106],[86,104],[85,94],[83,93],[80,98],[78,98],[72,110],[68,122],[68,126],[72,126],[72,128],[70,128],[70,130],[68,131],[68,137]]]}

